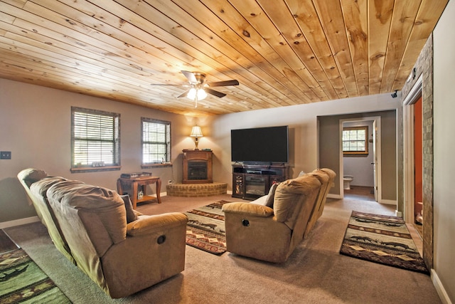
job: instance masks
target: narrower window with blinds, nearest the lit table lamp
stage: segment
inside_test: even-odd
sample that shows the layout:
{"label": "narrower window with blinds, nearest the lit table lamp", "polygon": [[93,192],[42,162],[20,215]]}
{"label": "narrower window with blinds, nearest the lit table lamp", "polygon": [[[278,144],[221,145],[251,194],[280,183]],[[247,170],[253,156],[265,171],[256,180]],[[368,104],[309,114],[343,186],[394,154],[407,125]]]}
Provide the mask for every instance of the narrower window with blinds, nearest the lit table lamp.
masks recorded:
{"label": "narrower window with blinds, nearest the lit table lamp", "polygon": [[171,162],[171,122],[142,117],[142,167]]}

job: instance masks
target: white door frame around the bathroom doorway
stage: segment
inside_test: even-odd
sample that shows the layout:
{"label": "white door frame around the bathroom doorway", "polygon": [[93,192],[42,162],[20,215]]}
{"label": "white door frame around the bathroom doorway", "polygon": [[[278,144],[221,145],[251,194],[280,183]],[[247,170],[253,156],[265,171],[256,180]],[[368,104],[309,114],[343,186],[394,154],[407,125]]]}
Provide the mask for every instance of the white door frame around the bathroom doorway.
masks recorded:
{"label": "white door frame around the bathroom doorway", "polygon": [[[344,187],[343,187],[343,175],[344,175],[344,164],[343,164],[343,123],[344,122],[356,122],[356,121],[371,121],[373,120],[373,125],[376,125],[378,128],[378,132],[376,133],[377,140],[373,142],[373,145],[375,145],[375,148],[373,149],[373,152],[375,155],[373,155],[373,159],[377,159],[377,163],[375,164],[375,169],[376,169],[376,176],[375,182],[376,184],[374,185],[375,189],[378,192],[378,202],[382,201],[382,173],[381,173],[381,117],[380,116],[369,116],[369,117],[353,117],[353,118],[346,118],[343,120],[340,120],[340,127],[338,128],[340,131],[340,151],[339,151],[339,157],[340,157],[340,194],[341,198],[344,197]],[[373,130],[375,132],[375,130]]]}

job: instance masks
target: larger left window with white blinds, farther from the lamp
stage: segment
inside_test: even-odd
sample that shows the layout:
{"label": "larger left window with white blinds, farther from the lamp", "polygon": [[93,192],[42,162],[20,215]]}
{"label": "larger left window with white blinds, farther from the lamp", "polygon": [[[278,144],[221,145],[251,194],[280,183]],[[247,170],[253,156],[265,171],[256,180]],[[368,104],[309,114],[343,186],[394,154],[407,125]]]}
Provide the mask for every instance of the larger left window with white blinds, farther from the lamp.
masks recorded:
{"label": "larger left window with white blinds, farther from the lamp", "polygon": [[71,107],[71,171],[120,169],[120,115]]}

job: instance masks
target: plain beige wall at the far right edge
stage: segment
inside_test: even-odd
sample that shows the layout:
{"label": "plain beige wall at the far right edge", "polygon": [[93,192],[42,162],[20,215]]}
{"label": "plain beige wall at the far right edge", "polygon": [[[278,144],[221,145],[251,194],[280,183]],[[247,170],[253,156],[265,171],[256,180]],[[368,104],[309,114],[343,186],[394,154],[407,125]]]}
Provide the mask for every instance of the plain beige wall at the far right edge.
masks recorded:
{"label": "plain beige wall at the far right edge", "polygon": [[455,2],[434,30],[434,271],[455,303]]}

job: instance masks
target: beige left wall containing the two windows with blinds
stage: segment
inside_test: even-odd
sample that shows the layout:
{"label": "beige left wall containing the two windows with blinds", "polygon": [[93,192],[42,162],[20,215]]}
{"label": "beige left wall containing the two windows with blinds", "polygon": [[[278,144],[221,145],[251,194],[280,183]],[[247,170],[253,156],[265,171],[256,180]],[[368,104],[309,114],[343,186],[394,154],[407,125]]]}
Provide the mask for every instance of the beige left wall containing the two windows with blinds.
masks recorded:
{"label": "beige left wall containing the two windows with blinds", "polygon": [[[169,179],[181,181],[181,150],[194,148],[188,135],[198,122],[205,130],[210,120],[174,115],[112,100],[0,79],[0,151],[11,151],[10,160],[0,159],[0,223],[36,216],[28,205],[16,174],[26,167],[44,169],[50,175],[79,179],[88,184],[116,189],[121,172],[152,172],[161,177],[166,192]],[[71,173],[71,106],[120,113],[120,171]],[[141,169],[141,117],[171,121],[173,167]],[[155,192],[154,187],[149,189]]]}

